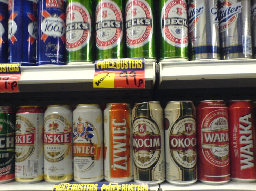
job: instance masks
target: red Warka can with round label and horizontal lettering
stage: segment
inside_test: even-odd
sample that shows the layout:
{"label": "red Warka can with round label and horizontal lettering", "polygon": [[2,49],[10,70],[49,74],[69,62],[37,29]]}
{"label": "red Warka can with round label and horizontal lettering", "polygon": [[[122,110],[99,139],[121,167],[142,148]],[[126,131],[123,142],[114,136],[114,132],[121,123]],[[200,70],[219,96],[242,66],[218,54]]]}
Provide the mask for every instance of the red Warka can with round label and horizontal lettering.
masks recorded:
{"label": "red Warka can with round label and horizontal lettering", "polygon": [[230,180],[228,108],[223,100],[197,106],[198,179],[205,184]]}

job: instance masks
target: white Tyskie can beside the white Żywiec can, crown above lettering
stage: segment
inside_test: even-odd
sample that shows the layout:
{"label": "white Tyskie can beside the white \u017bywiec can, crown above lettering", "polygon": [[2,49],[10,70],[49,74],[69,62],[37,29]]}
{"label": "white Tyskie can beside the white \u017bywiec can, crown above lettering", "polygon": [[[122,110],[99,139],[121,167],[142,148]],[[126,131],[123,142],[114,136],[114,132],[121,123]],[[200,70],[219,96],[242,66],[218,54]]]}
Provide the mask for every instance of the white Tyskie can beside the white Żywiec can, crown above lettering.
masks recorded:
{"label": "white Tyskie can beside the white \u017bywiec can, crown above lettering", "polygon": [[73,114],[68,105],[49,105],[44,113],[44,180],[73,179]]}

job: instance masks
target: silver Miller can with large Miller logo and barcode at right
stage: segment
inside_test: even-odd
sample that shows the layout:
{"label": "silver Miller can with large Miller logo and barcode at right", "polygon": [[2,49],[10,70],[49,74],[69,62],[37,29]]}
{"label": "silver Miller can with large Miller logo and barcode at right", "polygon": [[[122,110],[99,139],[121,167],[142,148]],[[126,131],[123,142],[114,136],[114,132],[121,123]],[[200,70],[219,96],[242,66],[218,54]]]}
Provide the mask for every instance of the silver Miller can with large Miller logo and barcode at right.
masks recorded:
{"label": "silver Miller can with large Miller logo and barcode at right", "polygon": [[251,59],[250,1],[221,0],[219,27],[222,60]]}

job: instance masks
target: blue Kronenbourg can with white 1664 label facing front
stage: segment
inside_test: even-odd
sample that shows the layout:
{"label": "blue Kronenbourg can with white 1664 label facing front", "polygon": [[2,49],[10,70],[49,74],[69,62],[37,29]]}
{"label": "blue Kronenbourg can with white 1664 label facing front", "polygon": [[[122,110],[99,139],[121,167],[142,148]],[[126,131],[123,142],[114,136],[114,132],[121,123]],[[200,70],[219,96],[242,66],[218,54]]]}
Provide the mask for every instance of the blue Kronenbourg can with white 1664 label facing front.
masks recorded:
{"label": "blue Kronenbourg can with white 1664 label facing front", "polygon": [[66,63],[66,0],[39,0],[36,65]]}

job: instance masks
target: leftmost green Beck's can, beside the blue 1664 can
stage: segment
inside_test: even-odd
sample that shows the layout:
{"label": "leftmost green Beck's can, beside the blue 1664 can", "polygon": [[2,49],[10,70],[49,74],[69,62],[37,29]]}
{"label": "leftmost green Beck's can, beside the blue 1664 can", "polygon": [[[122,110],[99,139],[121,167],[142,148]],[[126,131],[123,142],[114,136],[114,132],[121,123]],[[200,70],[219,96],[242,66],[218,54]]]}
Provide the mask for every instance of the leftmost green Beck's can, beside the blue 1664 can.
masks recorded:
{"label": "leftmost green Beck's can, beside the blue 1664 can", "polygon": [[67,64],[94,63],[94,1],[68,0],[66,11]]}

